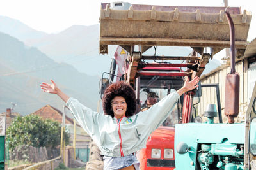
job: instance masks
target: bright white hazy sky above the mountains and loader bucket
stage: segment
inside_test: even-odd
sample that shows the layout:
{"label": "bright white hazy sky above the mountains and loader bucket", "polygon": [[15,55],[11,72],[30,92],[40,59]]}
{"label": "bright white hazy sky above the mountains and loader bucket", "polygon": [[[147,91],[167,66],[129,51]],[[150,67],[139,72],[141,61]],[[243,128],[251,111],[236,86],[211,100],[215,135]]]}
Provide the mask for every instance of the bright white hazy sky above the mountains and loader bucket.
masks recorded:
{"label": "bright white hazy sky above the mountains and loader bucket", "polygon": [[[47,33],[60,32],[71,25],[94,25],[99,22],[99,0],[1,0],[0,15],[20,20],[24,24]],[[179,0],[142,1],[131,0],[132,4],[156,4],[167,6],[223,6],[223,0]],[[228,6],[241,6],[255,11],[253,0],[228,0]],[[255,18],[252,18],[251,28]],[[252,30],[252,29],[251,29]],[[254,29],[255,30],[255,29]],[[251,31],[252,32],[252,31]],[[249,32],[250,39],[253,33]]]}

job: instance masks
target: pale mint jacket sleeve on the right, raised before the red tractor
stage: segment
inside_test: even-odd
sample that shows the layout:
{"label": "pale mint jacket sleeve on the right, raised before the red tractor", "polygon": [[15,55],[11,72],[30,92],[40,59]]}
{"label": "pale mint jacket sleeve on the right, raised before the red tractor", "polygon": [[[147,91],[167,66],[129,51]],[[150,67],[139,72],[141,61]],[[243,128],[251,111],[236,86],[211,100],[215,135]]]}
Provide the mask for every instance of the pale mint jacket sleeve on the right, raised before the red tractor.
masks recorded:
{"label": "pale mint jacket sleeve on the right, raised before the red tractor", "polygon": [[137,115],[134,115],[141,132],[149,136],[154,130],[156,130],[157,127],[159,127],[168,117],[168,113],[173,110],[173,107],[177,103],[179,97],[180,96],[176,91],[172,92],[161,99],[161,101],[154,104],[150,109],[141,111]]}

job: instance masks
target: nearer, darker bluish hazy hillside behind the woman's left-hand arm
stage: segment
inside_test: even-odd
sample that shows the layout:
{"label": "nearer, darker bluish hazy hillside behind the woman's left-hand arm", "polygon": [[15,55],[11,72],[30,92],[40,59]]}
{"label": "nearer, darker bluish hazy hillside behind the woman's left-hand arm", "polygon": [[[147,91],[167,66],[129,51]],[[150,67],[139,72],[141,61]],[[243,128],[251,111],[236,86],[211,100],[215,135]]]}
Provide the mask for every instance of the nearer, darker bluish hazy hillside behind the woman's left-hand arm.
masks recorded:
{"label": "nearer, darker bluish hazy hillside behind the woman's left-hand arm", "polygon": [[96,110],[98,76],[88,76],[68,64],[58,64],[36,48],[0,33],[0,113],[10,108],[11,102],[17,103],[15,111],[22,115],[45,104],[62,110],[64,103],[58,97],[40,90],[39,84],[51,78],[69,96]]}

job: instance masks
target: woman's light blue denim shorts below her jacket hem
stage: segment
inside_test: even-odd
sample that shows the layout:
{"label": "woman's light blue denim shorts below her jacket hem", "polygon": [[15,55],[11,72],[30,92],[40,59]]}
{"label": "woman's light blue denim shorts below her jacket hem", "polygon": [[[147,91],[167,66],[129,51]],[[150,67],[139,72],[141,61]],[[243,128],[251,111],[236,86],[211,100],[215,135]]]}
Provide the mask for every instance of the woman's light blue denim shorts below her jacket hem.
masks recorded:
{"label": "woman's light blue denim shorts below her jacket hem", "polygon": [[134,154],[126,155],[124,157],[108,157],[104,156],[104,170],[117,170],[134,165],[138,170],[140,162],[136,159]]}

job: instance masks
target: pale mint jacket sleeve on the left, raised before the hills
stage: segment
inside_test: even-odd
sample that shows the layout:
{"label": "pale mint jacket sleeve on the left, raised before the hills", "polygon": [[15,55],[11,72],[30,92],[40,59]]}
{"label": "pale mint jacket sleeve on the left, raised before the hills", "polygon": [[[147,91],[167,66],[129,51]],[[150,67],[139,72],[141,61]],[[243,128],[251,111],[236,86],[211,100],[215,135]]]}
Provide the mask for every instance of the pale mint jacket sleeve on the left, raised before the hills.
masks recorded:
{"label": "pale mint jacket sleeve on the left, raised before the hills", "polygon": [[66,106],[84,131],[90,136],[99,135],[99,122],[104,121],[103,114],[92,111],[72,97],[68,99]]}

